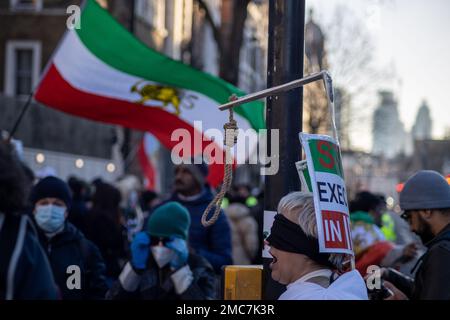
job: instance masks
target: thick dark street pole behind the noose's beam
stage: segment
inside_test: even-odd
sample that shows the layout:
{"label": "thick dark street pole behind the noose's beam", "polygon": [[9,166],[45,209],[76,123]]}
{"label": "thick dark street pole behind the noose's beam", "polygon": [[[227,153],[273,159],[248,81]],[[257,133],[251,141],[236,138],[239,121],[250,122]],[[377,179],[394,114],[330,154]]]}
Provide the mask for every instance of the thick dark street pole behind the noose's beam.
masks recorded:
{"label": "thick dark street pole behind the noose's beam", "polygon": [[[269,1],[269,46],[267,87],[274,87],[303,77],[305,0]],[[270,131],[279,130],[279,171],[266,176],[264,210],[276,211],[280,199],[300,190],[295,162],[301,159],[298,133],[302,130],[303,89],[290,90],[267,99],[268,150]],[[271,156],[273,156],[271,154]],[[285,290],[271,278],[264,258],[264,298],[277,299]]]}

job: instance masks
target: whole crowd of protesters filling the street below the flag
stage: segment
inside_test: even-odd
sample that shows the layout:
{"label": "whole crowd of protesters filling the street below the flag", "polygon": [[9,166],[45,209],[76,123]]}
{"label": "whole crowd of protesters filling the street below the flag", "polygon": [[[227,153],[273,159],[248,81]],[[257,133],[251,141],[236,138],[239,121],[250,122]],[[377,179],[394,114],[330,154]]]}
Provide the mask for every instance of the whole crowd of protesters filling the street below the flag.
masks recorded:
{"label": "whole crowd of protesters filling the street below the flag", "polygon": [[263,239],[263,194],[235,184],[216,223],[201,217],[214,197],[208,166],[175,166],[173,192],[70,177],[37,179],[0,143],[0,299],[220,299],[222,267],[261,264],[270,246],[280,299],[373,298],[364,278],[381,268],[383,299],[450,299],[450,187],[434,171],[412,176],[403,214],[383,195],[349,203],[351,257],[320,252],[313,196],[283,197]]}

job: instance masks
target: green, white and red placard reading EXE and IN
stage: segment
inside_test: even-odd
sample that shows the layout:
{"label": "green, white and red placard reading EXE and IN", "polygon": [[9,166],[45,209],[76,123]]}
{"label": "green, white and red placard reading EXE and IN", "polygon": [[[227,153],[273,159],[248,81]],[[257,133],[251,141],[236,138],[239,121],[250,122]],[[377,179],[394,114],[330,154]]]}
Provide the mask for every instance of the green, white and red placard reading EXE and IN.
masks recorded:
{"label": "green, white and red placard reading EXE and IN", "polygon": [[314,195],[321,252],[353,255],[341,153],[334,139],[300,133]]}

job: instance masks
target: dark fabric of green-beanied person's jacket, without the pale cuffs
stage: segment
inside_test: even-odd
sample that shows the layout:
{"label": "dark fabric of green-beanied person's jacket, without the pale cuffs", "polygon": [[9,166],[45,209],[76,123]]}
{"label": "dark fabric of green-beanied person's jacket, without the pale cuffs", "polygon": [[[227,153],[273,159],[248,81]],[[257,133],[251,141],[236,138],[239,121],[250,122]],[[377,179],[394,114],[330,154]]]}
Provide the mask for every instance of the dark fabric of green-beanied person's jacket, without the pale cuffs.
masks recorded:
{"label": "dark fabric of green-beanied person's jacket, without the pale cuffs", "polygon": [[[175,292],[170,273],[155,266],[152,258],[140,279],[135,292],[127,292],[120,281],[117,281],[107,293],[107,299],[138,300],[213,300],[217,298],[217,283],[214,269],[203,257],[190,253],[188,265],[193,273],[193,281],[185,292]],[[152,267],[153,266],[153,267]]]}

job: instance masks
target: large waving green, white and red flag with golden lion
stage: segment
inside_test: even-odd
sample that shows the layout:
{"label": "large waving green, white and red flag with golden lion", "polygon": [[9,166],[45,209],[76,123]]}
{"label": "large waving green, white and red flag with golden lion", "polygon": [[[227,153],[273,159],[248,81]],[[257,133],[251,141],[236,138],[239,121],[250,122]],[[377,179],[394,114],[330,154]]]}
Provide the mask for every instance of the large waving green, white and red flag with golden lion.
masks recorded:
{"label": "large waving green, white and red flag with golden lion", "polygon": [[[76,116],[147,131],[169,149],[181,142],[172,141],[172,132],[185,129],[192,138],[191,154],[182,155],[186,157],[196,156],[195,150],[211,150],[211,144],[223,153],[223,140],[208,132],[223,131],[228,113],[218,105],[231,94],[244,92],[150,49],[94,0],[87,0],[81,28],[66,32],[34,98]],[[236,107],[235,118],[240,129],[263,129],[263,103]],[[203,138],[200,147],[194,147],[194,137]],[[245,140],[238,137],[241,143]],[[256,142],[247,139],[247,144],[248,140],[251,150]],[[238,163],[246,156],[233,151]],[[223,164],[210,165],[211,185],[222,178]]]}

